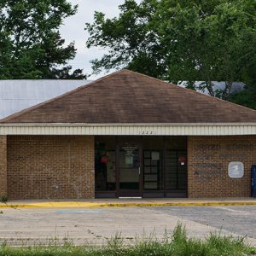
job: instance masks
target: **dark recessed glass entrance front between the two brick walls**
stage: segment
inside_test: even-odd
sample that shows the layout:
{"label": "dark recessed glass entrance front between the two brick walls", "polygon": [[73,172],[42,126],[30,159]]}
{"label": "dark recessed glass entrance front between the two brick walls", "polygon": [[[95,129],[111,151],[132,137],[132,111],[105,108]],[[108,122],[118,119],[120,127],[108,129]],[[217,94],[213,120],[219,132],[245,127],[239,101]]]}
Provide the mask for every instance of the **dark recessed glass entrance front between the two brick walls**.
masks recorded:
{"label": "dark recessed glass entrance front between the two brick walls", "polygon": [[95,137],[96,198],[187,197],[187,137]]}

